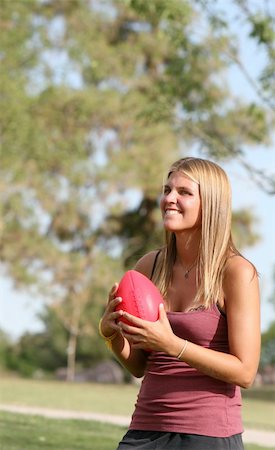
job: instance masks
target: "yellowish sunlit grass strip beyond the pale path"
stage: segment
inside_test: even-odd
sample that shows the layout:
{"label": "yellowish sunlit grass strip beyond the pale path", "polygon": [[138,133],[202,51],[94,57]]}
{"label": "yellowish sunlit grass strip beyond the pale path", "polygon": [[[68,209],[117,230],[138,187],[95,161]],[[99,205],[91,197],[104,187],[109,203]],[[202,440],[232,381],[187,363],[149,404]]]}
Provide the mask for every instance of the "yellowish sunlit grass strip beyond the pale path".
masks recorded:
{"label": "yellowish sunlit grass strip beyond the pale path", "polygon": [[[1,403],[130,416],[138,387],[3,377],[0,379],[0,392]],[[244,426],[275,431],[275,403],[259,400],[258,394],[257,399],[244,397]]]}

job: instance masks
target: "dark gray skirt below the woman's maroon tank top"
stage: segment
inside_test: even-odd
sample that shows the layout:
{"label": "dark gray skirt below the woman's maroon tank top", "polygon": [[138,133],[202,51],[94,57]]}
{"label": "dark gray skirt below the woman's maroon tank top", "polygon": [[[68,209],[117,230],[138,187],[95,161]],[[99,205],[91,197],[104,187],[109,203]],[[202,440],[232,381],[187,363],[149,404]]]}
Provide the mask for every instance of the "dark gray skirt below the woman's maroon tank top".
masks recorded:
{"label": "dark gray skirt below the woman's maroon tank top", "polygon": [[117,450],[244,450],[242,435],[211,437],[166,431],[129,430]]}

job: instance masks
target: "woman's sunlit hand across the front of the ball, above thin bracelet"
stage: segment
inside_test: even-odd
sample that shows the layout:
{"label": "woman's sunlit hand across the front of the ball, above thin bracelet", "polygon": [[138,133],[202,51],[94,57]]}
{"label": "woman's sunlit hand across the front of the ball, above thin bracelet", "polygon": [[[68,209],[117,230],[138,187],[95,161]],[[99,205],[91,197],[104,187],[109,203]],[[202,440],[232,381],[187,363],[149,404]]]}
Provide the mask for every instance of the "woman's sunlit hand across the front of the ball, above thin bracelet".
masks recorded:
{"label": "woman's sunlit hand across the front of the ball, above thin bracelet", "polygon": [[169,352],[174,333],[163,304],[159,306],[159,319],[156,322],[140,319],[127,312],[123,312],[123,317],[132,325],[120,321],[118,326],[133,348]]}

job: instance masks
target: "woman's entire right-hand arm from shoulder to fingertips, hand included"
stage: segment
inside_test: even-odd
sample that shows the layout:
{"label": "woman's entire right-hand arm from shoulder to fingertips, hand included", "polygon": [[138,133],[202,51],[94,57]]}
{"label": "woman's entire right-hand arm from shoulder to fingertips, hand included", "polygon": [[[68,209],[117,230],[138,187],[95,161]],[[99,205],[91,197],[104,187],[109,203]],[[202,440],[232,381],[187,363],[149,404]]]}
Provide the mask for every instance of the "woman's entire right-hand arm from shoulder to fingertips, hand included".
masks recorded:
{"label": "woman's entire right-hand arm from shoulder to fingertips, hand included", "polygon": [[[258,277],[244,258],[236,256],[230,260],[224,279],[224,294],[229,354],[188,342],[181,360],[206,375],[248,388],[258,368],[261,333]],[[130,319],[129,315],[124,315]],[[132,342],[133,349],[149,346],[177,356],[183,348],[184,340],[173,333],[164,308],[160,308],[157,322],[141,319],[133,322],[135,327],[121,324],[121,331]]]}

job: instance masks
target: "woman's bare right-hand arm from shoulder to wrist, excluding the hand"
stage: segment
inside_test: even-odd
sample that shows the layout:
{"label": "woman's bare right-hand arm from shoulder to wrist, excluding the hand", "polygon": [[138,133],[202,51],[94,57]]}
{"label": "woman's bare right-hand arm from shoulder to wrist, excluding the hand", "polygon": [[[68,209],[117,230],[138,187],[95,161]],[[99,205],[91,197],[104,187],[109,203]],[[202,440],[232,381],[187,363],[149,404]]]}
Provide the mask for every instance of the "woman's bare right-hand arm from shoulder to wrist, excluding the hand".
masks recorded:
{"label": "woman's bare right-hand arm from shoulder to wrist, excluding the hand", "polygon": [[260,299],[254,267],[240,256],[229,260],[224,279],[229,354],[188,344],[184,360],[215,378],[249,388],[257,373],[260,345]]}

